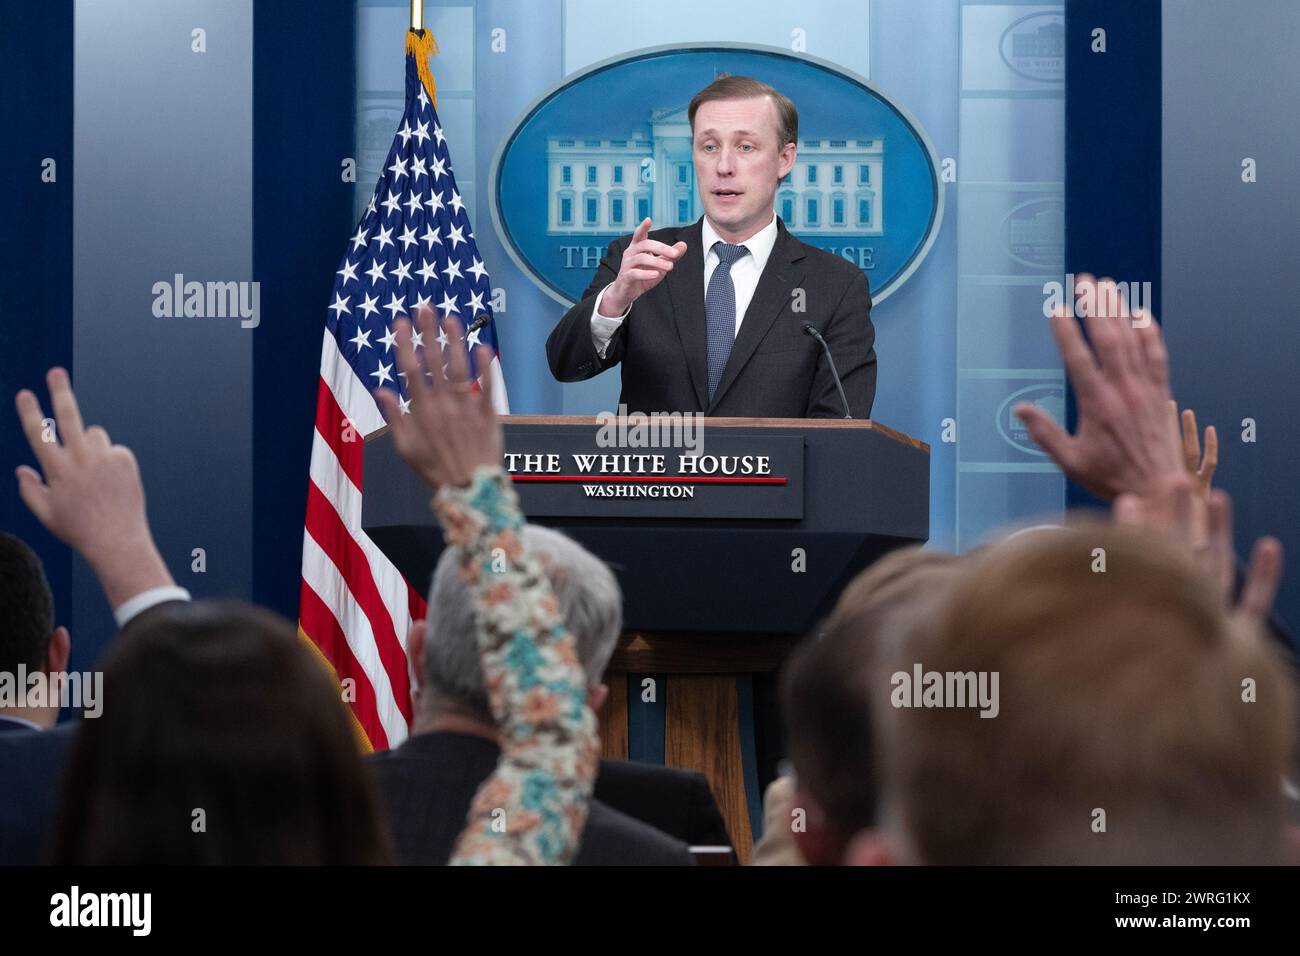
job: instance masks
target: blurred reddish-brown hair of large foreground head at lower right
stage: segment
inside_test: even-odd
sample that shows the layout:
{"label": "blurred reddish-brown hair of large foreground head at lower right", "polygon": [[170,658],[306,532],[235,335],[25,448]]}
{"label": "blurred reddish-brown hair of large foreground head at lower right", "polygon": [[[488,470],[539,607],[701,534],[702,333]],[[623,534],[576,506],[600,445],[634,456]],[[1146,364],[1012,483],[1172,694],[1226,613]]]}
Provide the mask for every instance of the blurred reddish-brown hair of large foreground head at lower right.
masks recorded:
{"label": "blurred reddish-brown hair of large foreground head at lower right", "polygon": [[1279,861],[1290,680],[1184,553],[1089,524],[967,559],[897,663],[998,674],[997,715],[878,711],[885,813],[919,862]]}

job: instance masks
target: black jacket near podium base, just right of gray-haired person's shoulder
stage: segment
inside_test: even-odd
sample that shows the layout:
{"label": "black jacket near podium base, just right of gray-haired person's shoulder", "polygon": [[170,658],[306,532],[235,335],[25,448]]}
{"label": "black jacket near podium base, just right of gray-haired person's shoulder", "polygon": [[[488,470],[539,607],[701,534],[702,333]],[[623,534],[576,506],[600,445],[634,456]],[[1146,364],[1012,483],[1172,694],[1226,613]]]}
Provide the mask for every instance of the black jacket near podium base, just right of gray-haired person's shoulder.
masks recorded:
{"label": "black jacket near podium base, just right of gray-haired person's shoulder", "polygon": [[630,760],[602,760],[593,796],[689,847],[732,845],[727,822],[703,774]]}

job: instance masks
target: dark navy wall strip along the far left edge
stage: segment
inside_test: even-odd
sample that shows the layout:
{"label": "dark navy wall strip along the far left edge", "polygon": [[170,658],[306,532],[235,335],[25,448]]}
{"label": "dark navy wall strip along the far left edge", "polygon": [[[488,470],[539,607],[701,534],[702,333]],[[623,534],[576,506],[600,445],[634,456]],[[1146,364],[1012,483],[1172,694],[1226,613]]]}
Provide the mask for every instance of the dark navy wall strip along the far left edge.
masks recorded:
{"label": "dark navy wall strip along the far left edge", "polygon": [[[55,617],[72,611],[72,553],[18,498],[13,468],[35,464],[13,414],[13,394],[30,388],[49,407],[44,373],[72,368],[73,339],[73,0],[20,4],[0,30],[0,129],[5,148],[0,199],[0,531],[35,549],[55,594]],[[42,163],[56,161],[55,182]],[[32,265],[36,265],[34,271]]]}

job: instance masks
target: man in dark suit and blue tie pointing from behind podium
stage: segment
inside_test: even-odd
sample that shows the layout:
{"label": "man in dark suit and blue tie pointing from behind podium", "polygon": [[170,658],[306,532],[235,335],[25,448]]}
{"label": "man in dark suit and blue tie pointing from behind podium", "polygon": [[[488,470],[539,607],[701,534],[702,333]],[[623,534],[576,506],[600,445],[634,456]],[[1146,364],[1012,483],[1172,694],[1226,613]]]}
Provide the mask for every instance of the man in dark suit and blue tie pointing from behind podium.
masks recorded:
{"label": "man in dark suit and blue tie pointing from behind podium", "polygon": [[621,363],[619,401],[647,414],[868,418],[866,276],[796,239],[774,211],[794,168],[794,104],[767,83],[722,75],[696,94],[689,117],[703,217],[656,230],[646,219],[610,243],[546,342],[551,372],[581,381]]}

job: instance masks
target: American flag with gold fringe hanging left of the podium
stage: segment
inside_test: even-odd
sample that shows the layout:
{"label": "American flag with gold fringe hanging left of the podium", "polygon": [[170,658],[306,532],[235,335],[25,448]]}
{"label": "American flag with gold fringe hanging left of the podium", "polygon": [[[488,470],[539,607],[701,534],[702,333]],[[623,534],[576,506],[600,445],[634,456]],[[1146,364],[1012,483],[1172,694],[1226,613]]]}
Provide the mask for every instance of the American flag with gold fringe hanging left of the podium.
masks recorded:
{"label": "American flag with gold fringe hanging left of the podium", "polygon": [[[303,535],[299,628],[342,682],[374,749],[395,747],[407,735],[407,633],[424,618],[425,602],[424,581],[408,584],[361,531],[363,441],[384,425],[370,393],[390,388],[403,410],[408,402],[396,371],[395,319],[420,308],[459,316],[465,325],[491,316],[488,271],[456,191],[432,87],[425,88],[417,69],[432,39],[408,38],[402,127],[330,295]],[[469,336],[469,345],[478,343],[491,346],[493,360],[472,373],[494,376],[498,411],[508,411],[491,321]],[[417,336],[416,347],[445,349],[447,341],[441,332],[437,342]]]}

